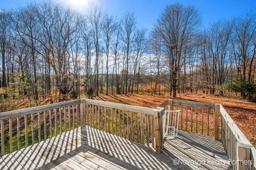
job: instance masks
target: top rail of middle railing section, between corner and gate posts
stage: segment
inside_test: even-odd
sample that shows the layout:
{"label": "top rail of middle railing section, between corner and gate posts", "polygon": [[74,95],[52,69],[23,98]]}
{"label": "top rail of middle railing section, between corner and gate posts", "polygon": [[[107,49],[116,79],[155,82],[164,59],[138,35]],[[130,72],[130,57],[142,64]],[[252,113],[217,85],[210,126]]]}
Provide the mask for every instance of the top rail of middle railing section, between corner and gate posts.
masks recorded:
{"label": "top rail of middle railing section, between corner and gate posts", "polygon": [[100,101],[100,100],[91,100],[91,99],[84,99],[84,100],[85,100],[85,103],[87,104],[99,105],[99,106],[116,108],[116,109],[124,109],[125,111],[144,113],[148,115],[154,115],[154,111],[155,111],[155,109],[147,108],[147,107],[117,104],[117,103],[111,103],[108,101]]}

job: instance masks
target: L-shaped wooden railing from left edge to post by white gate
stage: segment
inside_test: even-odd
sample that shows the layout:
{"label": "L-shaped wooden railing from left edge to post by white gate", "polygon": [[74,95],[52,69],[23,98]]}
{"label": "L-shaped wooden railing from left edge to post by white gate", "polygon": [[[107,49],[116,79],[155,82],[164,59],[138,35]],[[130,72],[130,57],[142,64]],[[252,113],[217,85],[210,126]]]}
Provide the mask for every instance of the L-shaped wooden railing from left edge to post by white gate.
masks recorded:
{"label": "L-shaped wooden railing from left edge to post by white gate", "polygon": [[[151,109],[90,99],[0,113],[1,156],[81,125],[145,143],[160,152],[163,147],[163,113],[163,108]],[[131,125],[133,122],[136,124]]]}

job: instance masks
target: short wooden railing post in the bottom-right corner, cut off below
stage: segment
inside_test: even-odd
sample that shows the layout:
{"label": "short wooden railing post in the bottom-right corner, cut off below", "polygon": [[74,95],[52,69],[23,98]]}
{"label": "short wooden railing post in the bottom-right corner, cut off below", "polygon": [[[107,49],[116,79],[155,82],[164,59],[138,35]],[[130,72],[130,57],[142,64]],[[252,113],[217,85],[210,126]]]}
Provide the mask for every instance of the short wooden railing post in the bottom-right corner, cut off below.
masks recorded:
{"label": "short wooden railing post in the bottom-right corner, cut off below", "polygon": [[238,170],[242,169],[252,169],[252,160],[251,160],[251,148],[249,145],[244,143],[237,143],[236,147],[236,165]]}

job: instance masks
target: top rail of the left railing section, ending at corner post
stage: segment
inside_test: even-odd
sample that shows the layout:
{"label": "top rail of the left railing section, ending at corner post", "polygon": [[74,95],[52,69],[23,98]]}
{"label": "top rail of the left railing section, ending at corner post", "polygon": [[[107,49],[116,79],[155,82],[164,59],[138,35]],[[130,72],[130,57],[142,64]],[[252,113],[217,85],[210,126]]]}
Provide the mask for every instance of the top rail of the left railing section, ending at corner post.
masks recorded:
{"label": "top rail of the left railing section, ending at corner post", "polygon": [[76,104],[79,104],[79,103],[81,103],[81,99],[63,101],[63,102],[60,102],[60,103],[54,103],[54,104],[50,104],[50,105],[30,107],[30,108],[20,109],[20,110],[16,110],[16,111],[3,112],[3,113],[0,113],[0,120],[6,120],[8,118],[18,117],[18,116],[23,116],[23,115],[29,115],[29,114],[38,113],[38,112],[49,111],[51,109],[64,107],[64,106],[76,105]]}

